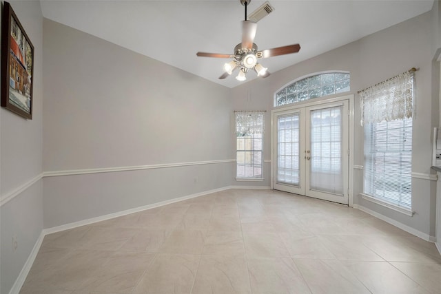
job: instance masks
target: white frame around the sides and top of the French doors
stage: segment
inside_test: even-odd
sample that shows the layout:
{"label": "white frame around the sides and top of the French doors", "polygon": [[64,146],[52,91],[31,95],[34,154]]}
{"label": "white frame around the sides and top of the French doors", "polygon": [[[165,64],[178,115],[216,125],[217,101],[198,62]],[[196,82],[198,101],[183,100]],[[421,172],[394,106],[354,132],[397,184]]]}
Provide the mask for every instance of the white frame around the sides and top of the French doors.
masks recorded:
{"label": "white frame around the sides and top of the French doors", "polygon": [[354,135],[354,96],[353,94],[345,95],[345,96],[336,96],[333,98],[314,98],[307,101],[302,101],[298,103],[294,103],[285,107],[278,107],[276,109],[271,110],[271,189],[274,189],[274,172],[275,172],[275,147],[274,140],[276,134],[274,134],[274,117],[287,111],[295,111],[296,109],[303,107],[314,107],[318,105],[324,105],[327,103],[334,103],[339,101],[349,102],[349,167],[348,167],[348,201],[349,207],[353,207],[353,135]]}

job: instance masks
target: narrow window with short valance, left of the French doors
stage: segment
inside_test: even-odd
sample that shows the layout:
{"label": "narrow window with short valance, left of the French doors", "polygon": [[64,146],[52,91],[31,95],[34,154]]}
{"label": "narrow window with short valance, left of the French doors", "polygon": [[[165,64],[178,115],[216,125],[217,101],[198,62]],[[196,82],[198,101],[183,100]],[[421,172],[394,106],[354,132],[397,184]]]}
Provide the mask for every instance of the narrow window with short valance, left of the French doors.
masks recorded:
{"label": "narrow window with short valance, left of the French doors", "polygon": [[265,112],[236,114],[236,178],[261,179]]}

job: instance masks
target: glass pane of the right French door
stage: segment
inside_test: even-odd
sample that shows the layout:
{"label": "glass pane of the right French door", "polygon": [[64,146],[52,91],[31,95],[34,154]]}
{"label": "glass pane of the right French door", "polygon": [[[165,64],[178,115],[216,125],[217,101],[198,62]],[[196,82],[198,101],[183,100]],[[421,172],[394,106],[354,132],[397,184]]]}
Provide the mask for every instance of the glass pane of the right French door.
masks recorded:
{"label": "glass pane of the right French door", "polygon": [[311,189],[343,194],[342,107],[311,111]]}

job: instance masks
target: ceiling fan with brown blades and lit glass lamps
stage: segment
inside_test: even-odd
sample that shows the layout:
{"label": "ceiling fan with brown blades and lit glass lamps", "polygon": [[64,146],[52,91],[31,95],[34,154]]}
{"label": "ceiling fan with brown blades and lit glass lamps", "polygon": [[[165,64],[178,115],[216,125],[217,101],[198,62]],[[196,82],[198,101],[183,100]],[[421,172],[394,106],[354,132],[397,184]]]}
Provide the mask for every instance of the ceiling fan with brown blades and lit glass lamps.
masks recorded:
{"label": "ceiling fan with brown blades and lit glass lamps", "polygon": [[257,72],[258,76],[266,78],[269,76],[267,68],[260,65],[257,59],[265,59],[272,56],[285,55],[296,53],[300,50],[299,44],[287,45],[278,48],[271,48],[265,50],[258,50],[257,45],[254,43],[254,37],[256,36],[257,21],[263,19],[267,14],[272,12],[274,8],[265,2],[256,11],[250,14],[249,20],[247,20],[247,5],[251,0],[239,0],[240,4],[245,6],[245,21],[242,21],[242,43],[238,43],[234,47],[234,54],[220,54],[220,53],[207,53],[197,52],[197,56],[202,57],[215,57],[221,59],[233,59],[229,63],[224,65],[224,74],[219,76],[220,79],[226,78],[236,69],[239,70],[236,79],[238,81],[245,81],[246,74],[249,70]]}

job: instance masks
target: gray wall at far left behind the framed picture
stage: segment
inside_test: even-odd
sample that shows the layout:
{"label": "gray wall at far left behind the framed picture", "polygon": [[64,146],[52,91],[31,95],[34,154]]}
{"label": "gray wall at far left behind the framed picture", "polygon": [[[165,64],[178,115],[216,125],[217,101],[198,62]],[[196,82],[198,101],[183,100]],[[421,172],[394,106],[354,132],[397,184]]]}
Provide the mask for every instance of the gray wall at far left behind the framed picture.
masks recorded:
{"label": "gray wall at far left behind the framed picture", "polygon": [[[0,193],[14,191],[42,172],[43,17],[39,1],[10,1],[34,45],[32,120],[0,109]],[[3,1],[1,1],[3,7]],[[3,87],[3,85],[2,85]],[[0,293],[8,293],[43,229],[41,180],[0,207]],[[12,236],[18,247],[12,252]]]}

